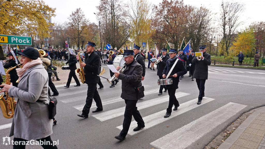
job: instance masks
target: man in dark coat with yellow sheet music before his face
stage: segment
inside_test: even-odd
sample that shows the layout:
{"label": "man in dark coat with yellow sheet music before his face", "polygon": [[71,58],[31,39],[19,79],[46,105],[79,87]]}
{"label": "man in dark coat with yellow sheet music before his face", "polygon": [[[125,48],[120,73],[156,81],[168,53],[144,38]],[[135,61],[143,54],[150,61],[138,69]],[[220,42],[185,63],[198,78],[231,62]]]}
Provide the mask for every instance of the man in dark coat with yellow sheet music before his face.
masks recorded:
{"label": "man in dark coat with yellow sheet music before his face", "polygon": [[197,104],[201,104],[202,97],[204,97],[205,81],[208,79],[208,65],[211,64],[211,55],[206,53],[206,45],[199,46],[200,52],[202,52],[201,60],[197,60],[197,57],[192,59],[192,63],[195,63],[195,70],[193,77],[196,78],[196,83],[200,91]]}

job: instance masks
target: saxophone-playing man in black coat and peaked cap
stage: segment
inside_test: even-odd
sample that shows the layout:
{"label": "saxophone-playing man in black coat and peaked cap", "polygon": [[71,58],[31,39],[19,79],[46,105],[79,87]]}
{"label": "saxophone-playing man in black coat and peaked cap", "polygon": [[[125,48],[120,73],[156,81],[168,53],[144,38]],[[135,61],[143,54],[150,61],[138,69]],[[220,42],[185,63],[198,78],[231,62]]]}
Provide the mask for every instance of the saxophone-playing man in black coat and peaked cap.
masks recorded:
{"label": "saxophone-playing man in black coat and peaked cap", "polygon": [[90,41],[87,42],[85,62],[80,64],[80,67],[84,67],[85,80],[88,86],[86,104],[82,110],[82,114],[77,115],[83,118],[88,118],[93,98],[96,102],[97,108],[92,112],[98,112],[103,110],[101,99],[97,91],[97,83],[99,82],[98,72],[99,72],[100,57],[98,54],[94,52],[95,46],[96,44],[94,42]]}

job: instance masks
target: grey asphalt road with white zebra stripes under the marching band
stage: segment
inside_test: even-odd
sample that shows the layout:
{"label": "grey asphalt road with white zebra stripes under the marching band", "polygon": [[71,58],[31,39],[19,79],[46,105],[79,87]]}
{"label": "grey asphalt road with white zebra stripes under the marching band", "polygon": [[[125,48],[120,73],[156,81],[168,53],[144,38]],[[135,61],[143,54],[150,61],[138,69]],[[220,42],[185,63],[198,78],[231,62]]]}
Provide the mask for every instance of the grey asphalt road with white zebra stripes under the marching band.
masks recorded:
{"label": "grey asphalt road with white zebra stripes under the marching band", "polygon": [[[147,64],[147,63],[146,63]],[[110,78],[108,68],[103,76]],[[209,66],[209,76],[205,83],[205,97],[197,105],[198,88],[188,73],[179,82],[176,97],[180,103],[177,111],[164,118],[168,106],[168,93],[158,96],[157,71],[146,69],[142,84],[145,97],[138,100],[137,107],[145,121],[145,128],[133,132],[137,126],[134,119],[126,139],[119,142],[114,138],[120,133],[125,102],[120,99],[121,81],[113,87],[101,78],[103,89],[98,90],[103,103],[103,111],[92,113],[88,119],[82,113],[87,85],[79,87],[56,85],[59,91],[57,104],[57,125],[53,126],[52,140],[59,140],[58,148],[204,148],[215,136],[236,120],[242,113],[265,105],[265,71],[255,69],[224,68]],[[0,113],[0,138],[8,136],[12,119],[5,119]],[[34,126],[29,126],[34,127]],[[11,137],[11,140],[13,137]],[[4,146],[2,141],[0,148]],[[29,145],[26,148],[42,148]]]}

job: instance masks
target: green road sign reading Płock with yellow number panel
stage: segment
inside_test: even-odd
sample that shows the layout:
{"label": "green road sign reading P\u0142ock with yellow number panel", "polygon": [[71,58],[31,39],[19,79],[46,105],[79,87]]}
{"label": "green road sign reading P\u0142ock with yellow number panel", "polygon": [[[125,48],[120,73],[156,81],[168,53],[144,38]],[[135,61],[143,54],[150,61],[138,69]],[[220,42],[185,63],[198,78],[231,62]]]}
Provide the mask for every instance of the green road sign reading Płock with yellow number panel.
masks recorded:
{"label": "green road sign reading P\u0142ock with yellow number panel", "polygon": [[0,44],[31,45],[31,37],[0,35]]}

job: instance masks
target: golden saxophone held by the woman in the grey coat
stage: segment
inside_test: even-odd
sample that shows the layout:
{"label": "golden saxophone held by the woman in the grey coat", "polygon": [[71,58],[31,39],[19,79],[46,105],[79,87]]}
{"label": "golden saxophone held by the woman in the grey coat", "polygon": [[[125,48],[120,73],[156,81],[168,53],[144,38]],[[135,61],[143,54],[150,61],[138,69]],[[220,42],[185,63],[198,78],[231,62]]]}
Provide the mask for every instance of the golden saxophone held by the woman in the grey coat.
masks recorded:
{"label": "golden saxophone held by the woman in the grey coat", "polygon": [[[5,84],[11,84],[10,75],[8,74],[12,69],[20,67],[21,64],[16,65],[15,67],[10,67],[6,70],[6,82]],[[12,98],[6,92],[6,99],[3,95],[0,95],[0,107],[2,109],[3,116],[7,119],[10,119],[14,116],[16,101],[15,98]]]}

